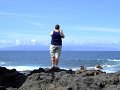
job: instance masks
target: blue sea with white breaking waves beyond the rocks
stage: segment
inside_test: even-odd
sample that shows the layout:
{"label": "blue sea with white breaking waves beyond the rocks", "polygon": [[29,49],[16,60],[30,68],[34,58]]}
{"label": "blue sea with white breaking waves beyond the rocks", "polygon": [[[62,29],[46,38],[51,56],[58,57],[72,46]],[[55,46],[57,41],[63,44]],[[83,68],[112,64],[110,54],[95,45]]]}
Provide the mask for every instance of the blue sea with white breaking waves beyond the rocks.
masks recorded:
{"label": "blue sea with white breaking waves beyond the rocks", "polygon": [[[120,71],[120,51],[63,51],[59,67],[77,70],[101,65],[108,73]],[[0,51],[0,66],[18,71],[50,68],[49,51]]]}

